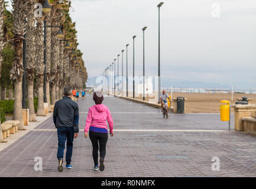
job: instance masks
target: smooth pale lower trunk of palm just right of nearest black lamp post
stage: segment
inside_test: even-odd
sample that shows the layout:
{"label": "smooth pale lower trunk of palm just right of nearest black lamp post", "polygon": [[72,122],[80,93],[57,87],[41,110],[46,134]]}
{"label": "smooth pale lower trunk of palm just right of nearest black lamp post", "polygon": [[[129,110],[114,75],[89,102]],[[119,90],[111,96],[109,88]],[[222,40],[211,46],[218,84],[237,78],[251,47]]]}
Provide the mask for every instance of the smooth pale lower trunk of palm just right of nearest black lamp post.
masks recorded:
{"label": "smooth pale lower trunk of palm just right of nearest black lamp post", "polygon": [[35,116],[34,109],[34,79],[27,79],[28,84],[28,109],[30,110],[30,122],[36,122],[37,118]]}

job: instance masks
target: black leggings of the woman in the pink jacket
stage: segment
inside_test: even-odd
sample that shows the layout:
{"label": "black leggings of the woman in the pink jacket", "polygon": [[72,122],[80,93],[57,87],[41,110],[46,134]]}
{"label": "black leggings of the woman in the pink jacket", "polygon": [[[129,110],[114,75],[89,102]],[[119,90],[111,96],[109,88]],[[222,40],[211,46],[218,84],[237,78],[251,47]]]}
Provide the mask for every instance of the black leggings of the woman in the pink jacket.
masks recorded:
{"label": "black leggings of the woman in the pink jacket", "polygon": [[89,132],[90,141],[92,141],[92,157],[94,165],[98,165],[98,151],[99,157],[105,158],[106,142],[108,141],[108,133]]}

